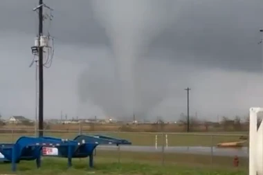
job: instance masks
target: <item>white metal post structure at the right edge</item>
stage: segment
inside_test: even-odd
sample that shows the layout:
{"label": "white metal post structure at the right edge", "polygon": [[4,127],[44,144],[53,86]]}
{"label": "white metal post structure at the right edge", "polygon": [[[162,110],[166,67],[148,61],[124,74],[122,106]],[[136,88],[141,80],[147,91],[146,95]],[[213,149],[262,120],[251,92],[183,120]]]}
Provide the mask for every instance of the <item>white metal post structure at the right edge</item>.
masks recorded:
{"label": "white metal post structure at the right edge", "polygon": [[249,175],[263,175],[263,125],[257,129],[257,116],[263,108],[249,110]]}

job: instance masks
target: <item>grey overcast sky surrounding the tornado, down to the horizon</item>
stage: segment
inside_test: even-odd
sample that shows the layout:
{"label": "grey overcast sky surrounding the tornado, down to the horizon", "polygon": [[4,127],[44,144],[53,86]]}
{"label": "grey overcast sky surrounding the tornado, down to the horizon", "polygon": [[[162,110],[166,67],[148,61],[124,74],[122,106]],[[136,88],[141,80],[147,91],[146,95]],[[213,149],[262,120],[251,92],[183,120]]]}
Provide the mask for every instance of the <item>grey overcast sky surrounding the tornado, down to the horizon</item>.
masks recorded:
{"label": "grey overcast sky surrounding the tornado, down to the horizon", "polygon": [[[45,0],[54,9],[45,31],[55,37],[55,55],[51,68],[44,69],[44,118],[60,118],[60,111],[69,117],[123,115],[113,33],[121,33],[120,44],[132,50],[135,45],[122,40],[123,30],[140,30],[145,23],[155,26],[132,33],[134,41],[144,43],[133,69],[138,117],[178,119],[186,113],[188,86],[190,114],[201,119],[245,116],[250,107],[262,106],[262,45],[257,43],[263,1],[111,0],[110,10],[97,1]],[[35,118],[35,66],[29,68],[35,6],[35,0],[0,2],[0,113],[6,118]],[[100,13],[110,17],[103,21]]]}

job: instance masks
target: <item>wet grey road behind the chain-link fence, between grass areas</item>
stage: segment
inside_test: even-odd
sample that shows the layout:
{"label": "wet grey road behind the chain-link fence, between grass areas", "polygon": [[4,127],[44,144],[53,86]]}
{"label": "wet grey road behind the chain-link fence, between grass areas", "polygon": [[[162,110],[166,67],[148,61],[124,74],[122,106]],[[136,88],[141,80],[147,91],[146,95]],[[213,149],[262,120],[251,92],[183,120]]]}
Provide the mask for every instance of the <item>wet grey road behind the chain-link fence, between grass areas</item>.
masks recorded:
{"label": "wet grey road behind the chain-link fence, between grass areas", "polygon": [[[97,149],[102,150],[118,150],[116,146],[100,145]],[[149,146],[131,146],[121,145],[120,151],[136,151],[136,152],[162,152],[162,147],[149,147]],[[218,148],[218,147],[165,147],[164,151],[167,153],[183,153],[183,154],[202,154],[214,156],[239,156],[248,157],[248,148],[242,147],[234,148]]]}

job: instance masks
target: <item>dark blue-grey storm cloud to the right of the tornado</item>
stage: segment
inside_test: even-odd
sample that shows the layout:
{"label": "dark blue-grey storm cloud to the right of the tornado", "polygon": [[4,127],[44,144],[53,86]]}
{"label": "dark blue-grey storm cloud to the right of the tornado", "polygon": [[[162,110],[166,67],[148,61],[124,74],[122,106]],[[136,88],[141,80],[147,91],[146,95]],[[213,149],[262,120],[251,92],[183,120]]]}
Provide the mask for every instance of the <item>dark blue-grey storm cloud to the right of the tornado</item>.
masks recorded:
{"label": "dark blue-grey storm cloud to the right of the tornado", "polygon": [[[188,0],[190,1],[190,0]],[[156,37],[154,48],[181,62],[242,71],[261,71],[263,1],[203,1],[181,10],[172,28]]]}

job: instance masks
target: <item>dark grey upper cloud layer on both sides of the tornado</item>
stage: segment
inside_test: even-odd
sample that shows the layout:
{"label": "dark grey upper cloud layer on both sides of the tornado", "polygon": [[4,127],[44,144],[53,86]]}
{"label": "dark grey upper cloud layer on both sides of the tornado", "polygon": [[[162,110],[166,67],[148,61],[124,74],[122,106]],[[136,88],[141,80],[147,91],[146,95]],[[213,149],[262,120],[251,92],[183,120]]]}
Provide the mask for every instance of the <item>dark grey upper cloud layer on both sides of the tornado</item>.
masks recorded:
{"label": "dark grey upper cloud layer on both sides of the tornado", "polygon": [[[51,31],[57,42],[109,46],[105,29],[93,18],[90,1],[45,2],[55,9]],[[37,2],[33,0],[1,1],[0,30],[36,33],[34,6]],[[162,48],[167,50],[163,54],[176,61],[260,71],[261,46],[257,42],[260,41],[259,30],[263,26],[262,6],[260,0],[187,0],[174,25],[152,41],[148,55],[156,55],[156,48]]]}

